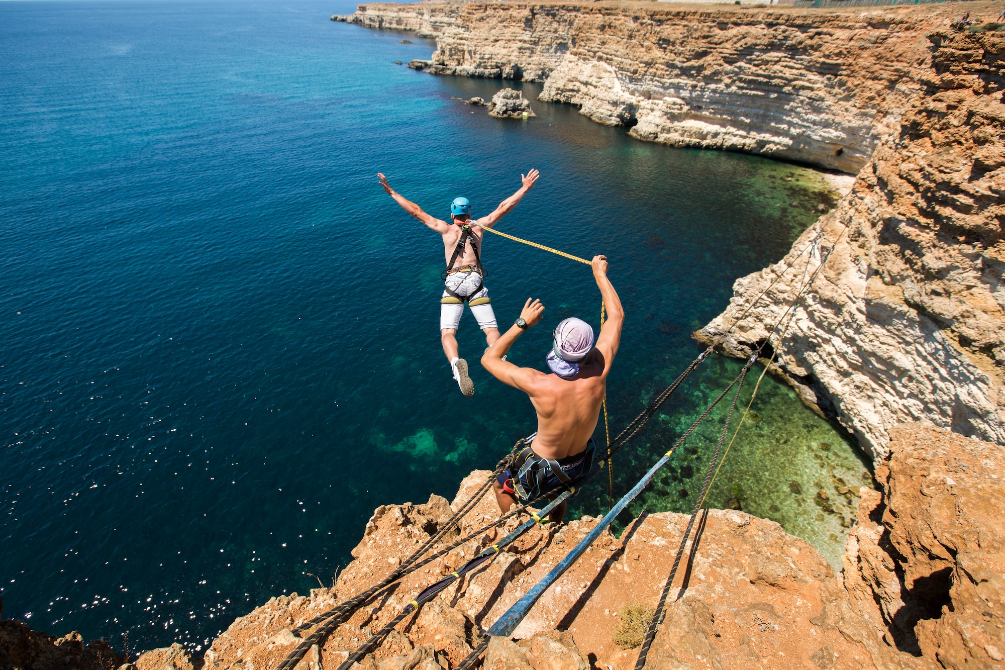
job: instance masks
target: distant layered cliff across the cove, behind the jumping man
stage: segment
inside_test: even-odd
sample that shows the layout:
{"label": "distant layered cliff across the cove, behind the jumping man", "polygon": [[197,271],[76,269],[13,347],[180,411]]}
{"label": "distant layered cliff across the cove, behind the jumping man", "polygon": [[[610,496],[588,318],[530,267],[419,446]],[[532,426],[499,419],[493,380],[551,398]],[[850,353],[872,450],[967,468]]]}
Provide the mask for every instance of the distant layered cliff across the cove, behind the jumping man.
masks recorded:
{"label": "distant layered cliff across the cove, behind the jumping man", "polygon": [[857,172],[954,12],[372,3],[339,18],[433,35],[430,72],[545,81],[541,100],[640,139]]}

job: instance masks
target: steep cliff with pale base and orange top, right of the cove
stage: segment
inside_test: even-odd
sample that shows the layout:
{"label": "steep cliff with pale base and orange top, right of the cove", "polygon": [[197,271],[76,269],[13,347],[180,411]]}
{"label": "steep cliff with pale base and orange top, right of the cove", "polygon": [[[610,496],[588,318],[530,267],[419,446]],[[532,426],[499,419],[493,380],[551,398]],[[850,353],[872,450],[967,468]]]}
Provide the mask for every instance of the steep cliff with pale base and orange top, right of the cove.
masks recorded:
{"label": "steep cliff with pale base and orange top, right of the cove", "polygon": [[892,426],[922,418],[1005,442],[1005,39],[926,41],[926,91],[851,193],[781,263],[737,280],[730,307],[698,333],[749,354],[833,245],[773,367],[877,458]]}

